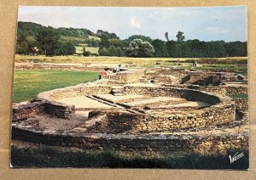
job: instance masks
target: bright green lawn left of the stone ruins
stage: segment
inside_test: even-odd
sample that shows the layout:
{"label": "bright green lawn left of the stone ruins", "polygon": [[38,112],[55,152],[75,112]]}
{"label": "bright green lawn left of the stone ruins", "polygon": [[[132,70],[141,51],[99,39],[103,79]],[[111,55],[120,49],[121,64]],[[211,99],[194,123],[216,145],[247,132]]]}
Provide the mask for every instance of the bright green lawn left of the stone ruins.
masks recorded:
{"label": "bright green lawn left of the stone ruins", "polygon": [[98,72],[61,71],[61,70],[15,70],[15,103],[36,98],[38,93],[55,88],[77,85],[81,82],[93,82]]}

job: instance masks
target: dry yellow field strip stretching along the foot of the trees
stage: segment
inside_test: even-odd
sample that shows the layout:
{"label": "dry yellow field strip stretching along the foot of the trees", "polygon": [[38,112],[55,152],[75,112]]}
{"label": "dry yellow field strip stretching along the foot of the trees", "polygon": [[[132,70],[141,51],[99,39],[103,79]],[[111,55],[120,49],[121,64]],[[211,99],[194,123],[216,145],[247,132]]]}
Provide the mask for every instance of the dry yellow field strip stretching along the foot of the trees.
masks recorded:
{"label": "dry yellow field strip stretching along the foot of the trees", "polygon": [[[78,47],[82,48],[82,47]],[[80,49],[81,50],[81,49]],[[96,48],[88,47],[91,53]],[[79,64],[114,64],[131,65],[136,64],[142,67],[177,67],[191,69],[192,62],[197,61],[197,70],[239,70],[247,73],[247,57],[218,58],[218,59],[191,59],[191,58],[128,58],[128,57],[83,57],[83,56],[26,56],[16,55],[15,62],[26,63],[79,63]]]}

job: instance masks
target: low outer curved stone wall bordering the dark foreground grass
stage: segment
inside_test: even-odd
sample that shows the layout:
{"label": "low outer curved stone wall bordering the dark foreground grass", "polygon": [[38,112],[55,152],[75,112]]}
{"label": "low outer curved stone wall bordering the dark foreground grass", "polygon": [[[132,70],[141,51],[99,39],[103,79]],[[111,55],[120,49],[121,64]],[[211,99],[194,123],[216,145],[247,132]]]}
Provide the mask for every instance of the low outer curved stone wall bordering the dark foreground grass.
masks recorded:
{"label": "low outer curved stone wall bordering the dark foreground grass", "polygon": [[[32,138],[33,137],[33,138]],[[125,135],[125,134],[48,134],[13,127],[12,138],[33,143],[72,146],[84,149],[114,149],[128,151],[194,151],[218,152],[225,149],[248,148],[248,132],[224,135]]]}

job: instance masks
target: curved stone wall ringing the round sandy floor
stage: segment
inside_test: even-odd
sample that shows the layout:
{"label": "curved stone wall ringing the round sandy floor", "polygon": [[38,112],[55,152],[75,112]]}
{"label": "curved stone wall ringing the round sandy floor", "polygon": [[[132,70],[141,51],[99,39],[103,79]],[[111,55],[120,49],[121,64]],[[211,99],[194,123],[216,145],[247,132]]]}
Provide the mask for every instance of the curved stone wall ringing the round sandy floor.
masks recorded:
{"label": "curved stone wall ringing the round sandy floor", "polygon": [[[73,97],[78,95],[110,93],[111,88],[112,87],[110,86],[92,86],[90,84],[85,84],[40,93],[38,97],[55,100],[57,98]],[[188,111],[188,115],[172,113],[168,110],[161,112],[161,114],[138,114],[136,120],[133,120],[135,122],[131,121],[132,118],[130,118],[131,115],[129,115],[129,113],[123,113],[123,116],[119,117],[118,112],[113,112],[112,116],[108,115],[108,124],[113,124],[117,130],[123,129],[123,131],[126,131],[129,129],[137,132],[166,132],[177,128],[184,129],[191,127],[215,126],[234,121],[236,118],[235,103],[227,97],[217,97],[216,95],[206,92],[175,87],[125,86],[124,90],[125,94],[146,94],[152,97],[163,96],[185,98],[189,101],[205,102],[211,106],[204,108],[203,110],[198,110],[197,112]],[[120,119],[122,119],[122,121],[119,121]]]}

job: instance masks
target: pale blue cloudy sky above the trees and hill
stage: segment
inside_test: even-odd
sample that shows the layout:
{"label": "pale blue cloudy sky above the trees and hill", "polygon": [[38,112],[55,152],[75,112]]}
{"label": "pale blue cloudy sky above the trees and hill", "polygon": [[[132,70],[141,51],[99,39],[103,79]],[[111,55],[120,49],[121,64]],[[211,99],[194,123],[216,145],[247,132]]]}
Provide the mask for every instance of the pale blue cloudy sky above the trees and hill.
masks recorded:
{"label": "pale blue cloudy sky above the trees and hill", "polygon": [[144,35],[176,40],[183,31],[186,40],[247,41],[246,6],[189,8],[46,7],[20,6],[19,21],[57,27],[98,29],[121,39]]}

